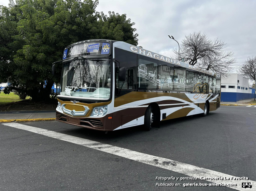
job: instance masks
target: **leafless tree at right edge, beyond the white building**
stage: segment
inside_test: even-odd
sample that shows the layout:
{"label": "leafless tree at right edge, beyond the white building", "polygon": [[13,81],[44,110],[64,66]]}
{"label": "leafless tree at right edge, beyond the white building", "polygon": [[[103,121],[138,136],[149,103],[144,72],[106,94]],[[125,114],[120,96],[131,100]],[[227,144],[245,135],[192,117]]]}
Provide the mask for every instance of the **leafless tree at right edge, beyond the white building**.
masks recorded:
{"label": "leafless tree at right edge, beyond the white building", "polygon": [[251,81],[255,81],[256,75],[256,56],[248,57],[247,60],[238,68],[238,73]]}

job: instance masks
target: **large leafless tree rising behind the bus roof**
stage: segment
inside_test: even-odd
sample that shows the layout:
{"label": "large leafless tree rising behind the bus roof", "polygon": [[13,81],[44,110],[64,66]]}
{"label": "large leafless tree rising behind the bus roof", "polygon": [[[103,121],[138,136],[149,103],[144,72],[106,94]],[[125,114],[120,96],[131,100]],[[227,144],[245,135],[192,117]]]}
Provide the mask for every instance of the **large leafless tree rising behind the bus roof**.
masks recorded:
{"label": "large leafless tree rising behind the bus roof", "polygon": [[[233,70],[232,64],[236,63],[236,58],[232,58],[233,52],[225,52],[226,43],[219,38],[214,40],[208,38],[205,33],[194,32],[185,36],[181,42],[180,55],[184,62],[190,65],[210,70],[227,77]],[[174,50],[175,57],[179,57],[179,52]]]}

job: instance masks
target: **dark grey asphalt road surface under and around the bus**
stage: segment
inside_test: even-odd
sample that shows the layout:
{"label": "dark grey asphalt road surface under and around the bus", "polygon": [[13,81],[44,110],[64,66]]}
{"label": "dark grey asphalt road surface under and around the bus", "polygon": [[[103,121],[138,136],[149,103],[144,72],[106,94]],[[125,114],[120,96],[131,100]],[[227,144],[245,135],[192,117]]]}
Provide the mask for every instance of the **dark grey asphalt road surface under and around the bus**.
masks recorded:
{"label": "dark grey asphalt road surface under and around the bus", "polygon": [[[57,121],[21,124],[256,181],[256,107],[221,106],[207,117],[161,122],[160,128],[150,132],[143,131],[141,126],[104,134]],[[234,190],[209,186],[156,187],[156,183],[210,182],[156,180],[156,176],[187,176],[3,123],[0,132],[1,191]]]}

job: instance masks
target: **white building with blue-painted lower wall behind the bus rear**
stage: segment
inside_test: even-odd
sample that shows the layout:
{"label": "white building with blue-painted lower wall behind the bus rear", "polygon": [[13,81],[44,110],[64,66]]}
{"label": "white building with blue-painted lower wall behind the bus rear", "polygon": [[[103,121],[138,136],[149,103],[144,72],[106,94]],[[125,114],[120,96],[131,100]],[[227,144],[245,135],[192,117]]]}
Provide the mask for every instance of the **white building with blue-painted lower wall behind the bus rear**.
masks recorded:
{"label": "white building with blue-painted lower wall behind the bus rear", "polygon": [[247,78],[239,74],[230,74],[227,79],[221,79],[221,102],[237,102],[253,98],[248,82]]}

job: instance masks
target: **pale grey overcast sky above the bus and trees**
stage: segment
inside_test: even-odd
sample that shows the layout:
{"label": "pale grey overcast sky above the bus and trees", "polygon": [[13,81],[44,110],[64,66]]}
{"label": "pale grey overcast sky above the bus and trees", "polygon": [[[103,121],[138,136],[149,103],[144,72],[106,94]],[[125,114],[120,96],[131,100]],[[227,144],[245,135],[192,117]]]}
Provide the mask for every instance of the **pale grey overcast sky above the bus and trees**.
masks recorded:
{"label": "pale grey overcast sky above the bus and trees", "polygon": [[[8,0],[0,4],[8,6]],[[256,1],[246,0],[99,0],[98,12],[127,14],[139,34],[139,46],[165,56],[173,55],[177,43],[194,31],[219,37],[233,51],[238,64],[256,55]],[[234,71],[235,72],[235,71]]]}

